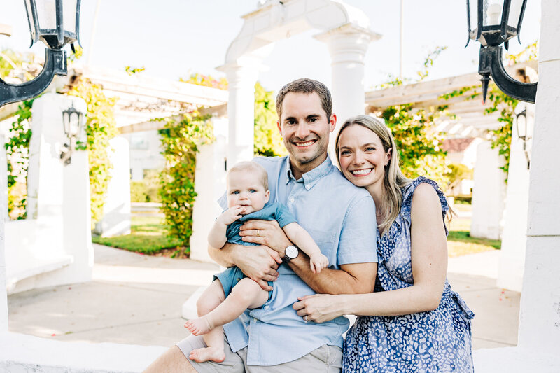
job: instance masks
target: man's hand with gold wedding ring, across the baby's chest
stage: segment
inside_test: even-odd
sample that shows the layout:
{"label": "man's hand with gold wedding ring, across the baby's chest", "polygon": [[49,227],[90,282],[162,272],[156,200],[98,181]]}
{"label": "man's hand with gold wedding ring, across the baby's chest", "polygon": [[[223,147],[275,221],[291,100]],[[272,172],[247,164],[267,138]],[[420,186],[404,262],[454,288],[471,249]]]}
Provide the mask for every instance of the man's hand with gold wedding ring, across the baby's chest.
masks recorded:
{"label": "man's hand with gold wedding ring, across the baby's chest", "polygon": [[239,235],[245,242],[272,248],[281,258],[286,254],[286,248],[293,245],[276,220],[248,220],[241,225]]}

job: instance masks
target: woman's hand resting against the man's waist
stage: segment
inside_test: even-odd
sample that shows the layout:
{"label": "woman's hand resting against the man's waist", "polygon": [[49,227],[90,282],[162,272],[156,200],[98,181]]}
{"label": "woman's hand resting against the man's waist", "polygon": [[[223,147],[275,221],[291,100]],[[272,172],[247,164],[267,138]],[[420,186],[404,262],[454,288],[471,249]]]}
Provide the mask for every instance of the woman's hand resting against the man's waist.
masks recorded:
{"label": "woman's hand resting against the man's waist", "polygon": [[344,295],[315,294],[298,297],[300,302],[293,304],[298,316],[302,316],[304,321],[314,323],[324,323],[333,318],[344,315],[341,304]]}

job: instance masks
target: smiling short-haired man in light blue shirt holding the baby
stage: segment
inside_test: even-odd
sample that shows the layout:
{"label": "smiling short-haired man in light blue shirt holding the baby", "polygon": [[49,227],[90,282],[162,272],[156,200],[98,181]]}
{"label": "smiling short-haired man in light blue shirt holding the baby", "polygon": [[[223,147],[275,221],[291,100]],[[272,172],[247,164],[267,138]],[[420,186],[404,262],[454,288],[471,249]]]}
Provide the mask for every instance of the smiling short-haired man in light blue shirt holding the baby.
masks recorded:
{"label": "smiling short-haired man in light blue shirt holding the baby", "polygon": [[[349,322],[340,317],[316,324],[297,316],[297,297],[316,293],[370,293],[377,273],[376,218],[373,199],[340,174],[327,154],[336,115],[327,87],[310,79],[284,86],[276,97],[278,129],[288,157],[258,157],[269,178],[270,202],[282,202],[297,218],[330,268],[314,274],[309,258],[288,240],[276,221],[252,220],[241,227],[244,241],[209,248],[216,262],[236,265],[265,290],[275,281],[271,300],[224,325],[222,363],[186,358],[204,347],[188,337],[156,360],[146,372],[339,372],[342,334]],[[221,204],[223,204],[221,199]],[[280,265],[284,262],[285,264]]]}

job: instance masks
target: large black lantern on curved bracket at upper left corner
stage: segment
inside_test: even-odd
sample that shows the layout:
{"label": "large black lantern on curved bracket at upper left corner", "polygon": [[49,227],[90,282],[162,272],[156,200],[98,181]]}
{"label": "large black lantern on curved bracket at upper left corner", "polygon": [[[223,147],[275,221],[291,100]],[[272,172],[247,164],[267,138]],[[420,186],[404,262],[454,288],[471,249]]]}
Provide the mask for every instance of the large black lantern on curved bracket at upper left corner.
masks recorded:
{"label": "large black lantern on curved bracket at upper left corner", "polygon": [[43,41],[45,64],[39,75],[23,84],[8,84],[0,79],[0,106],[25,101],[41,94],[55,75],[66,75],[64,45],[78,41],[81,0],[25,0],[31,45]]}

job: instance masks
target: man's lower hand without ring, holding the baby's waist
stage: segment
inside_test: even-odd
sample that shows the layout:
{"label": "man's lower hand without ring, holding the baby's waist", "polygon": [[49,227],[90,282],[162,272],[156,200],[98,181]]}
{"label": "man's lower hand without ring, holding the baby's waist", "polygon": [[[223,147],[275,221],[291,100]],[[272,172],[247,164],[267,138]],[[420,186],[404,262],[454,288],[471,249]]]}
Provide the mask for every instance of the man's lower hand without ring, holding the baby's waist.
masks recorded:
{"label": "man's lower hand without ring, holding the baby's waist", "polygon": [[280,255],[267,246],[243,246],[241,255],[237,255],[235,265],[262,290],[271,291],[272,286],[268,286],[267,281],[278,278],[276,269],[282,262]]}

